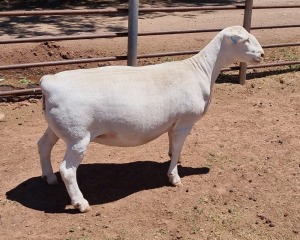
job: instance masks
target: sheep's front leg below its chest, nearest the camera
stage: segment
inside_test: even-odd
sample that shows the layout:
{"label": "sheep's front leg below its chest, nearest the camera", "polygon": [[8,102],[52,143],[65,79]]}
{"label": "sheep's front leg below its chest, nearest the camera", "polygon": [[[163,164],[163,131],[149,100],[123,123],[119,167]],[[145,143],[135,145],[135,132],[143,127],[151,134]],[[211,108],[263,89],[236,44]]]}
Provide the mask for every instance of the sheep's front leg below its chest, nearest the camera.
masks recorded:
{"label": "sheep's front leg below its chest, nearest the camera", "polygon": [[171,184],[174,186],[182,185],[180,177],[178,175],[177,164],[180,158],[183,143],[188,136],[191,128],[177,128],[172,129],[169,132],[170,149],[171,149],[171,163],[168,170],[168,177]]}

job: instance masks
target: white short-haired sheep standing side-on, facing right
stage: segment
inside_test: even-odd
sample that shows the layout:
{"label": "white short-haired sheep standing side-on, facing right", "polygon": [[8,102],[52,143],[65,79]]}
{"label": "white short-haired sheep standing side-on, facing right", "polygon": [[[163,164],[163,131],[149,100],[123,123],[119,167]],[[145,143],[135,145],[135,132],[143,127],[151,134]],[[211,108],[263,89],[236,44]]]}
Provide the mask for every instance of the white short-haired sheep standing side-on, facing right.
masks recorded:
{"label": "white short-haired sheep standing side-on, facing right", "polygon": [[38,142],[42,176],[57,183],[50,162],[59,138],[67,145],[60,173],[81,212],[90,210],[76,170],[90,142],[131,147],[169,135],[169,181],[181,185],[177,164],[183,143],[206,112],[212,86],[224,65],[258,63],[264,51],[240,26],[228,27],[197,55],[152,66],[109,66],[46,75],[44,94],[48,128]]}

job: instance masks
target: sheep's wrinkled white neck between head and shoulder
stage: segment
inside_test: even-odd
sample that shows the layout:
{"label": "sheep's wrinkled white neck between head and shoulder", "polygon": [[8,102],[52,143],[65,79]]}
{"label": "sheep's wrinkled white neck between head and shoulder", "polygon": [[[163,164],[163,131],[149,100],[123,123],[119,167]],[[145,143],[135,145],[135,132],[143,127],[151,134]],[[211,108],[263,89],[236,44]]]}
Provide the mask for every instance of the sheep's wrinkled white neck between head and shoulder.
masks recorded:
{"label": "sheep's wrinkled white neck between head and shoulder", "polygon": [[209,81],[211,87],[215,83],[222,67],[229,63],[226,54],[222,51],[222,36],[217,35],[204,49],[189,60],[201,80]]}

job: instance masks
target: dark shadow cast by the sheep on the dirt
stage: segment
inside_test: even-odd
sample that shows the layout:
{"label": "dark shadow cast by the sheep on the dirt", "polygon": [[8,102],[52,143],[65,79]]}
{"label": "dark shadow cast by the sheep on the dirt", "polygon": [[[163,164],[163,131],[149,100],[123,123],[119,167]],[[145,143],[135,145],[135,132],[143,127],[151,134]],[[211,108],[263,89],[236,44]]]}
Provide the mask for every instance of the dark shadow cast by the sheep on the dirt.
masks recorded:
{"label": "dark shadow cast by the sheep on the dirt", "polygon": [[[136,192],[168,186],[166,176],[169,162],[138,161],[132,163],[81,164],[77,179],[90,205],[122,199]],[[179,166],[181,177],[206,174],[209,168]],[[57,176],[60,179],[59,173]],[[170,185],[169,185],[170,186]],[[65,209],[70,199],[64,184],[48,186],[41,177],[30,178],[6,193],[9,200],[47,213],[75,212]]]}

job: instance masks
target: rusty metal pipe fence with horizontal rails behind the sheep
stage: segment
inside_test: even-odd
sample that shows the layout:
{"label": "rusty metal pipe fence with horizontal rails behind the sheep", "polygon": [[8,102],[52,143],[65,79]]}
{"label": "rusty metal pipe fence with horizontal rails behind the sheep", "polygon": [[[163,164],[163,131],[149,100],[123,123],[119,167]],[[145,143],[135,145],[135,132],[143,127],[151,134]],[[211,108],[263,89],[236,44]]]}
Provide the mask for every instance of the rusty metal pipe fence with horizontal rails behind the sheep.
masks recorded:
{"label": "rusty metal pipe fence with horizontal rails behind the sheep", "polygon": [[[47,10],[47,11],[4,11],[0,12],[0,17],[24,17],[24,16],[53,16],[53,15],[87,15],[87,14],[130,14],[130,7],[134,5],[132,3],[138,2],[137,0],[129,1],[129,9],[127,8],[108,8],[108,9],[90,9],[90,10]],[[137,6],[136,6],[137,7]],[[253,6],[252,0],[246,0],[245,5],[230,5],[230,6],[201,6],[201,7],[169,7],[169,8],[139,8],[136,9],[140,14],[151,14],[154,12],[191,12],[191,11],[219,11],[219,10],[240,10],[244,9],[244,27],[245,24],[248,25],[248,30],[259,30],[259,29],[274,29],[274,28],[298,28],[300,24],[292,24],[292,25],[271,25],[271,26],[251,26],[251,14],[252,9],[281,9],[281,8],[300,8],[300,5],[279,5],[279,6]],[[134,12],[136,15],[136,11]],[[248,16],[248,19],[246,19]],[[137,18],[138,15],[135,16]],[[130,16],[129,16],[130,18]],[[248,21],[248,23],[247,23]],[[117,38],[117,37],[131,37],[132,34],[137,36],[153,36],[153,35],[171,35],[171,34],[193,34],[193,33],[205,33],[205,32],[218,32],[221,31],[221,28],[214,29],[189,29],[189,30],[172,30],[172,31],[153,31],[153,32],[135,32],[130,30],[132,24],[136,24],[134,29],[137,29],[137,19],[131,20],[129,23],[129,33],[127,31],[124,32],[114,32],[114,33],[102,33],[102,34],[87,34],[87,35],[77,35],[77,36],[46,36],[46,37],[32,37],[32,38],[17,38],[17,39],[1,39],[0,45],[2,44],[16,44],[16,43],[33,43],[33,42],[45,42],[45,41],[66,41],[66,40],[82,40],[82,39],[97,39],[97,38]],[[246,28],[247,29],[247,28]],[[134,37],[132,39],[135,39]],[[137,40],[135,40],[137,41]],[[67,64],[81,64],[81,63],[92,63],[92,62],[105,62],[105,61],[119,61],[119,60],[127,60],[129,58],[133,58],[131,63],[128,61],[128,64],[132,64],[135,59],[141,58],[153,58],[153,57],[166,57],[166,56],[178,56],[178,55],[190,55],[195,54],[198,51],[183,51],[183,52],[165,52],[165,53],[152,53],[152,54],[143,54],[138,55],[136,50],[134,49],[134,45],[136,47],[136,43],[128,44],[128,53],[122,56],[111,56],[111,57],[102,57],[102,58],[89,58],[89,59],[73,59],[73,60],[64,60],[64,61],[51,61],[51,62],[36,62],[36,63],[23,63],[23,64],[11,64],[11,65],[2,65],[0,66],[0,70],[9,70],[9,69],[18,69],[18,68],[32,68],[32,67],[46,67],[46,66],[56,66],[56,65],[67,65]],[[277,48],[277,47],[290,47],[290,46],[300,46],[300,42],[296,43],[277,43],[277,44],[269,44],[264,45],[263,48]],[[133,49],[132,49],[133,48]],[[135,50],[135,52],[134,52]],[[134,52],[134,53],[132,53]],[[130,57],[128,57],[130,56]],[[273,67],[273,66],[282,66],[282,65],[293,65],[299,64],[299,61],[287,61],[287,62],[279,62],[279,63],[269,63],[262,64],[257,66],[248,66],[249,68],[257,68],[257,67]],[[247,66],[246,66],[247,68]],[[232,70],[240,70],[240,67],[231,67],[224,68],[223,71],[232,71]],[[244,70],[245,71],[245,70]],[[245,75],[245,73],[244,73]],[[241,82],[243,83],[243,82]],[[32,90],[19,90],[20,94],[28,94],[28,92],[32,91],[32,93],[39,93],[36,89]],[[1,92],[0,96],[7,95],[9,93],[16,91],[8,91]]]}

